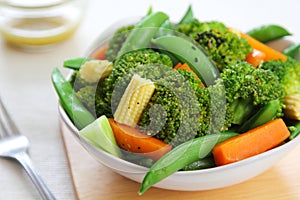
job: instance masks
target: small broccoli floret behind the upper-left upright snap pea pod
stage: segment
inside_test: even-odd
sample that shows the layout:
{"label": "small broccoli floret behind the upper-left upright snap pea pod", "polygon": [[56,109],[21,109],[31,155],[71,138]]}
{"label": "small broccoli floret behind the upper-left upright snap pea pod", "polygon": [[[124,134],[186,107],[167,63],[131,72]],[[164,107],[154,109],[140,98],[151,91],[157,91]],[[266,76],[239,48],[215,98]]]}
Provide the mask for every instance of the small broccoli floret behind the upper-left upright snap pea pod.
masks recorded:
{"label": "small broccoli floret behind the upper-left upright snap pea pod", "polygon": [[107,60],[114,61],[117,58],[118,52],[133,28],[134,25],[125,26],[114,33],[113,38],[109,41],[109,47],[105,53]]}

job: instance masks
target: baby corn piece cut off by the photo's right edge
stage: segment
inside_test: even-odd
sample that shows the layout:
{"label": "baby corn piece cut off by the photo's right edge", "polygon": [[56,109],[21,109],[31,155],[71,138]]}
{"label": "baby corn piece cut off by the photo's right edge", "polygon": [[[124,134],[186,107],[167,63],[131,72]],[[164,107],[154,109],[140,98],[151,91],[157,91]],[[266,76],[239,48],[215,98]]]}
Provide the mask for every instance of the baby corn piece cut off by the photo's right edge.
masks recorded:
{"label": "baby corn piece cut off by the photo's right edge", "polygon": [[300,120],[300,94],[287,95],[284,99],[284,114],[290,119]]}

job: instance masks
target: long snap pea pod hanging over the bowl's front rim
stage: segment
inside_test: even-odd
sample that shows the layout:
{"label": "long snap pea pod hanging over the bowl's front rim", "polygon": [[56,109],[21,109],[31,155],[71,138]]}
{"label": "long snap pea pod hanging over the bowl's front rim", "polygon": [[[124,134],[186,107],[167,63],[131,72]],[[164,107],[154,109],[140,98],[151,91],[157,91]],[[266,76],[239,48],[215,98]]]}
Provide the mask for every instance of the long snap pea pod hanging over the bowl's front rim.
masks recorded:
{"label": "long snap pea pod hanging over the bowl's front rim", "polygon": [[144,177],[139,195],[142,195],[152,185],[182,169],[184,166],[205,158],[217,143],[237,135],[237,133],[233,132],[210,134],[175,147],[152,165]]}

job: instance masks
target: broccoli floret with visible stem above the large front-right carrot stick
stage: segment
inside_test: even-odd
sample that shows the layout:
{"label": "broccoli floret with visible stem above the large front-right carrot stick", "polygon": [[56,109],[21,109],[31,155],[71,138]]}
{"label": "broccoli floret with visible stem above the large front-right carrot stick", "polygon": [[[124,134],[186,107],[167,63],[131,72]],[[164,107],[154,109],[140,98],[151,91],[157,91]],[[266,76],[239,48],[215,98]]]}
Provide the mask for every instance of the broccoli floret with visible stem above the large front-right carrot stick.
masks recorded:
{"label": "broccoli floret with visible stem above the large front-right carrot stick", "polygon": [[276,99],[281,102],[277,116],[282,116],[284,89],[270,70],[238,62],[224,68],[221,78],[226,91],[227,113],[233,115],[233,124],[242,124],[256,109]]}

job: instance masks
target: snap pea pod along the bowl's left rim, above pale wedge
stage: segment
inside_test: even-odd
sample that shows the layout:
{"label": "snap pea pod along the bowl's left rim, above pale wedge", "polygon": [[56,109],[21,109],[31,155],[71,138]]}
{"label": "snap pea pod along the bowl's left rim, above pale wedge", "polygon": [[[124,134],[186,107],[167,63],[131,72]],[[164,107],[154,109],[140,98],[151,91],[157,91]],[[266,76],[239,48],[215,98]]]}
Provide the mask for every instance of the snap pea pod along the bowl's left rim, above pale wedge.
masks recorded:
{"label": "snap pea pod along the bowl's left rim, above pale wedge", "polygon": [[64,78],[58,68],[54,68],[51,78],[62,107],[77,128],[82,129],[95,121],[95,117],[77,99],[71,84]]}

